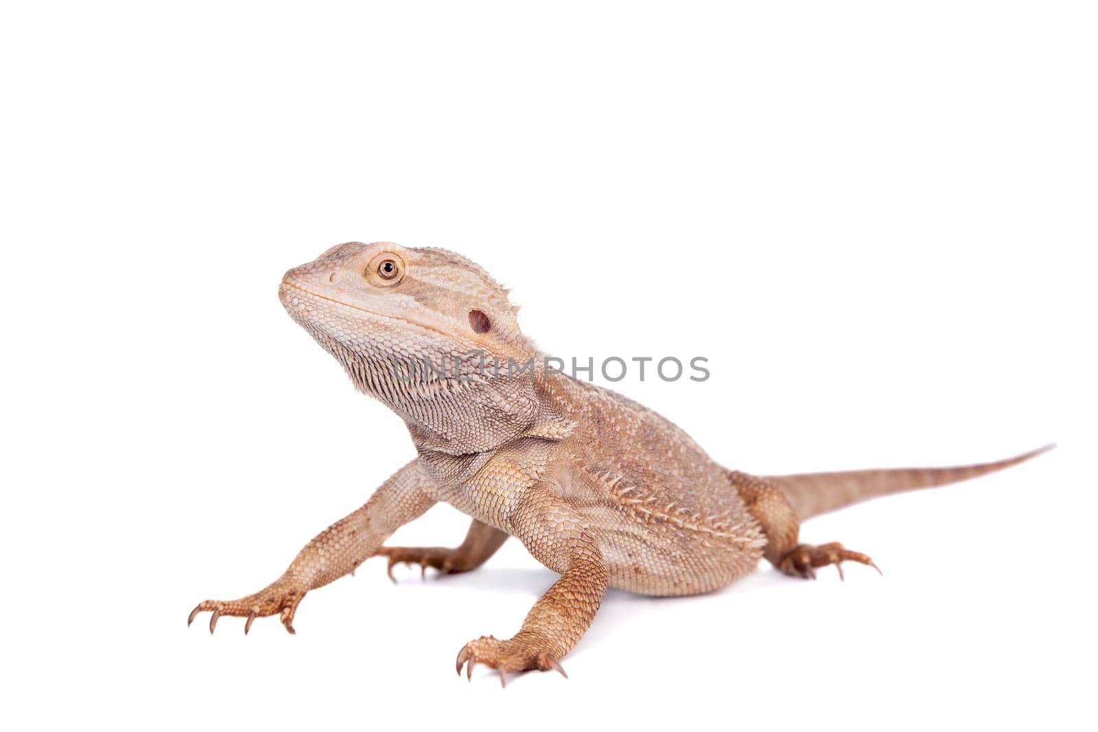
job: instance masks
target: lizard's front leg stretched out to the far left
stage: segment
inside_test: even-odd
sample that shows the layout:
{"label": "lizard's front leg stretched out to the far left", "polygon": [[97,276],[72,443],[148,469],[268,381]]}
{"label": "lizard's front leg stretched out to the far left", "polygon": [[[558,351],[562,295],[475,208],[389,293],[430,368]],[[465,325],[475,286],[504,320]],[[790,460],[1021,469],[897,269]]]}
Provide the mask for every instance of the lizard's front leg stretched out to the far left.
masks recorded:
{"label": "lizard's front leg stretched out to the far left", "polygon": [[322,531],[305,544],[281,577],[266,588],[237,600],[199,603],[187,620],[210,610],[210,632],[223,615],[246,617],[244,632],[259,617],[279,613],[291,633],[298,604],[311,589],[322,587],[366,561],[389,534],[423,516],[435,504],[428,497],[429,478],[415,461],[399,470],[378,488],[365,506]]}

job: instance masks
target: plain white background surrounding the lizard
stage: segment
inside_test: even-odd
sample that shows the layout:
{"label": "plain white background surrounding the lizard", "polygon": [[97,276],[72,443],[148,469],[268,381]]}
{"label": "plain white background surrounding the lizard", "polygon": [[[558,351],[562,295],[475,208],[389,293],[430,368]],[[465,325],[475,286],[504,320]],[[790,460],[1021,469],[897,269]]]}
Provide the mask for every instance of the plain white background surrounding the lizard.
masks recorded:
{"label": "plain white background surrounding the lizard", "polygon": [[[1093,724],[1091,8],[5,3],[3,725]],[[276,297],[354,239],[560,356],[707,357],[615,387],[740,470],[1060,448],[804,528],[883,577],[610,592],[569,680],[453,675],[553,579],[514,540],[187,629],[413,455]]]}

